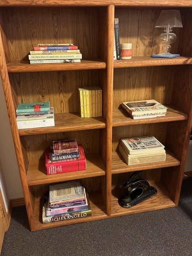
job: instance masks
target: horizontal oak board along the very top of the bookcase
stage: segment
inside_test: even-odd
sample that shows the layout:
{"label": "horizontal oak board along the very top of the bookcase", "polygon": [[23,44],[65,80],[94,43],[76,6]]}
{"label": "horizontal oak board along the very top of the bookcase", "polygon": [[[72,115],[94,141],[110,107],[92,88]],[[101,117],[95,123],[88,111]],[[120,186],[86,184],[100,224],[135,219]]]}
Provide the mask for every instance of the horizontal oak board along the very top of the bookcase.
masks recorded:
{"label": "horizontal oak board along the very top of the bookcase", "polygon": [[4,0],[1,1],[0,6],[108,6],[108,5],[115,5],[115,6],[132,6],[132,7],[191,7],[192,2],[191,0],[183,0],[181,2],[176,0],[83,0],[79,2],[79,0]]}

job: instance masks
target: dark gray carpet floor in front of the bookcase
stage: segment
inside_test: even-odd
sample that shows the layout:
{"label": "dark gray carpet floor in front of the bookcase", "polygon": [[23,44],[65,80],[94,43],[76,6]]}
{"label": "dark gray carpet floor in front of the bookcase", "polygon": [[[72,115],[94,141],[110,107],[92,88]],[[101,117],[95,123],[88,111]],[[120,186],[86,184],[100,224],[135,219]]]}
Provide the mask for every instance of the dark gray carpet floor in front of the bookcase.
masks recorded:
{"label": "dark gray carpet floor in front of the bookcase", "polygon": [[178,207],[29,231],[25,207],[13,209],[1,256],[192,256],[192,178]]}

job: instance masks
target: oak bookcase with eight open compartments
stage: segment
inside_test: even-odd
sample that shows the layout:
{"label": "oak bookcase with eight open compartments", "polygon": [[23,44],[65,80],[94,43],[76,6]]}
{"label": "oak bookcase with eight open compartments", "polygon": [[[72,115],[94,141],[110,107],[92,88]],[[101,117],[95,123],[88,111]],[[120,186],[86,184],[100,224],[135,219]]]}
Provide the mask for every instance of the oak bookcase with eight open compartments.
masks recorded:
{"label": "oak bookcase with eight open compartments", "polygon": [[[174,29],[175,59],[151,58],[160,52],[154,28],[162,9],[180,10],[183,29]],[[178,205],[192,125],[192,2],[185,0],[2,0],[0,73],[32,231]],[[114,17],[120,41],[133,44],[132,59],[113,61]],[[30,65],[28,53],[42,42],[73,42],[81,63]],[[136,56],[136,57],[135,57]],[[78,86],[101,86],[103,117],[80,118]],[[123,101],[155,99],[168,106],[165,117],[133,120]],[[17,129],[18,103],[50,101],[55,127]],[[167,150],[164,162],[128,166],[118,152],[120,138],[154,135]],[[53,140],[83,145],[87,170],[47,176],[44,152]],[[157,195],[130,209],[118,205],[121,184],[144,170]],[[42,194],[49,184],[81,179],[92,216],[42,223]]]}

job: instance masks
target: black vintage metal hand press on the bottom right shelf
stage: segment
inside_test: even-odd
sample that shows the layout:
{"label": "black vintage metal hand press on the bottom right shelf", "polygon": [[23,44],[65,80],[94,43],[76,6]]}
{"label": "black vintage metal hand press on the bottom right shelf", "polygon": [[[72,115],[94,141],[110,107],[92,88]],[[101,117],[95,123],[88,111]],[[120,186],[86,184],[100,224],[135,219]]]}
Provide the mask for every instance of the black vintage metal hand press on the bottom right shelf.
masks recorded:
{"label": "black vintage metal hand press on the bottom right shelf", "polygon": [[142,171],[134,172],[127,181],[122,184],[125,189],[125,195],[119,198],[118,203],[123,208],[132,207],[157,194],[157,189],[150,186],[143,178],[136,176]]}

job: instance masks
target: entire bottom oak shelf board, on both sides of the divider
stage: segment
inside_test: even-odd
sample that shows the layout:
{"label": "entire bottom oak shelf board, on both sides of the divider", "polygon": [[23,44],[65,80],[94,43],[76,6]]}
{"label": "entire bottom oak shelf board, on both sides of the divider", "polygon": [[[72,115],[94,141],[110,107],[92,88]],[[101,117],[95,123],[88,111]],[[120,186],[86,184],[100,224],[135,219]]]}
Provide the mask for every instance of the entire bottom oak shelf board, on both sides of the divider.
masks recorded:
{"label": "entire bottom oak shelf board, on both sides of the divider", "polygon": [[123,190],[121,188],[116,188],[112,190],[112,200],[111,200],[111,216],[107,216],[105,214],[105,206],[104,203],[101,202],[101,195],[95,193],[94,195],[89,195],[92,216],[85,218],[78,218],[72,220],[64,220],[52,223],[44,223],[42,222],[42,198],[37,198],[34,204],[34,221],[35,221],[35,230],[59,227],[64,225],[107,219],[111,217],[123,216],[128,214],[135,214],[153,210],[159,210],[169,207],[176,206],[173,201],[169,198],[169,195],[166,189],[157,183],[150,182],[151,186],[154,186],[157,189],[157,195],[153,196],[146,201],[143,201],[129,209],[122,208],[118,204],[118,198],[122,195]]}

